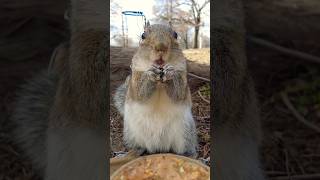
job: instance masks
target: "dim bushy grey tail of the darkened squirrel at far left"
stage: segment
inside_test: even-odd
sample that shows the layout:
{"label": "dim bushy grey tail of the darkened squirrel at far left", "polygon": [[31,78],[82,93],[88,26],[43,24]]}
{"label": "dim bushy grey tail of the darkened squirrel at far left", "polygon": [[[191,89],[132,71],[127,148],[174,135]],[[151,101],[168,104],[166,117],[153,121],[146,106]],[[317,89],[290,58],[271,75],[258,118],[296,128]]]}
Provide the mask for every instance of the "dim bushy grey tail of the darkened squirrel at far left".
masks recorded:
{"label": "dim bushy grey tail of the darkened squirrel at far left", "polygon": [[25,151],[35,169],[42,174],[46,166],[46,131],[58,78],[43,71],[23,85],[18,92],[11,116],[13,142]]}

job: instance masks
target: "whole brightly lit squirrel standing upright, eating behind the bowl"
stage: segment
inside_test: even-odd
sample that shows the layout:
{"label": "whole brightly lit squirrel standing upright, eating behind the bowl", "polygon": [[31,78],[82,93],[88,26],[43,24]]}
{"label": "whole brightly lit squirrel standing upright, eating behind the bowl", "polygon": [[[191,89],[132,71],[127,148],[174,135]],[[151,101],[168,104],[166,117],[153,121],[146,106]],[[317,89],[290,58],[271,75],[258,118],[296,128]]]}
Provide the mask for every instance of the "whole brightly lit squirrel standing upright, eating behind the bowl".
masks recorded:
{"label": "whole brightly lit squirrel standing upright, eating behind the bowl", "polygon": [[124,142],[129,149],[140,154],[197,156],[186,59],[177,33],[169,26],[145,26],[131,74],[113,99],[124,119]]}

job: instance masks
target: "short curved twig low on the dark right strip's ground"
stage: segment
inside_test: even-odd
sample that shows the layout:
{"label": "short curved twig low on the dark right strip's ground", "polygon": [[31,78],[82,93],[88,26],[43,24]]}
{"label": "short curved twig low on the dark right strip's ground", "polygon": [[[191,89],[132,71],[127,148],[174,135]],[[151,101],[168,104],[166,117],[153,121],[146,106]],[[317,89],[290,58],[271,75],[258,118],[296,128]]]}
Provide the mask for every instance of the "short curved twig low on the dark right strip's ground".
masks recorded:
{"label": "short curved twig low on the dark right strip's ground", "polygon": [[297,110],[296,108],[292,105],[290,102],[288,96],[286,93],[282,92],[281,93],[281,98],[284,104],[288,107],[288,109],[292,112],[294,117],[296,117],[297,120],[302,122],[304,125],[306,125],[308,128],[315,130],[316,132],[320,133],[320,128],[314,125],[313,123],[307,121]]}

